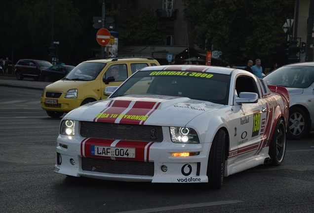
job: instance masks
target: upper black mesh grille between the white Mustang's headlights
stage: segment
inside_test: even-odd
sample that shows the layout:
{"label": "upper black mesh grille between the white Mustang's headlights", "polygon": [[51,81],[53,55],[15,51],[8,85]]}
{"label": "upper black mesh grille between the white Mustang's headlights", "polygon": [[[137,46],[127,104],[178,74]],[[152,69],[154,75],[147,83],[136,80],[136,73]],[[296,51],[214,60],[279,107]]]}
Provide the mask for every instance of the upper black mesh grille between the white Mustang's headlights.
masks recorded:
{"label": "upper black mesh grille between the white Mustang's headlights", "polygon": [[79,133],[85,138],[145,142],[163,141],[161,126],[81,121]]}

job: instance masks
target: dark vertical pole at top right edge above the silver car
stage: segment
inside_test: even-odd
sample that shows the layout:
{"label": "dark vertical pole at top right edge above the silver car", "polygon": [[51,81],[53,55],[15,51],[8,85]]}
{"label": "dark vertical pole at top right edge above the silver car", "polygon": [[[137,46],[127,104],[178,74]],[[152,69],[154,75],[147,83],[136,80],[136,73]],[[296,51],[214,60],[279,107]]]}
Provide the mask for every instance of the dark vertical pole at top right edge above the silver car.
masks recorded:
{"label": "dark vertical pole at top right edge above the silver car", "polygon": [[313,62],[313,32],[314,32],[314,0],[310,1],[308,18],[308,35],[306,44],[306,62]]}

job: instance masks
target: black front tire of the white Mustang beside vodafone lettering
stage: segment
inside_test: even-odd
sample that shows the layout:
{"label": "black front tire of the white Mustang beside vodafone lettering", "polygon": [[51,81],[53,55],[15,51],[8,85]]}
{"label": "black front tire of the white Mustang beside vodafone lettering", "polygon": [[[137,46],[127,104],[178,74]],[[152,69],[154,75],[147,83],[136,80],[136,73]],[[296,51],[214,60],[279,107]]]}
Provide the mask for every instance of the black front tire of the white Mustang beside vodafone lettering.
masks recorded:
{"label": "black front tire of the white Mustang beside vodafone lettering", "polygon": [[208,186],[220,189],[224,181],[226,160],[226,132],[218,130],[212,142],[207,164]]}

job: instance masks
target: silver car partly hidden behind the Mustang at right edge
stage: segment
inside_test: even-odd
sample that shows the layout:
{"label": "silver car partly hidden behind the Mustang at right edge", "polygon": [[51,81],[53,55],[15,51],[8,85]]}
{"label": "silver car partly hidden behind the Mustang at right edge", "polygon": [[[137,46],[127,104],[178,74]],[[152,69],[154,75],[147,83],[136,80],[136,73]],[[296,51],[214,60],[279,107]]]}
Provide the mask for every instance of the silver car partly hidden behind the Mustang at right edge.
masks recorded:
{"label": "silver car partly hidden behind the Mustang at right edge", "polygon": [[298,140],[314,131],[314,62],[285,65],[263,79],[267,84],[284,86],[288,90],[288,139]]}

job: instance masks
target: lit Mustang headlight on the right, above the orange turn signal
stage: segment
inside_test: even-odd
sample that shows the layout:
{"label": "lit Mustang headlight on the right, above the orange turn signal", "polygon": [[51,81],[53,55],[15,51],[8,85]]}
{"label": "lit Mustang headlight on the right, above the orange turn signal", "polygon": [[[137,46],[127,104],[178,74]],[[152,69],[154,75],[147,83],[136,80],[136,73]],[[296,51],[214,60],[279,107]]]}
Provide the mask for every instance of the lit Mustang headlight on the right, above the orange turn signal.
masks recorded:
{"label": "lit Mustang headlight on the right, above the orange turn signal", "polygon": [[170,127],[171,141],[177,143],[199,143],[196,131],[187,127]]}

